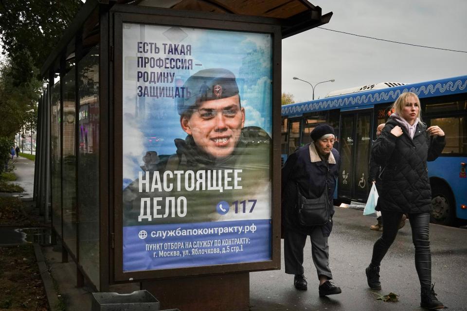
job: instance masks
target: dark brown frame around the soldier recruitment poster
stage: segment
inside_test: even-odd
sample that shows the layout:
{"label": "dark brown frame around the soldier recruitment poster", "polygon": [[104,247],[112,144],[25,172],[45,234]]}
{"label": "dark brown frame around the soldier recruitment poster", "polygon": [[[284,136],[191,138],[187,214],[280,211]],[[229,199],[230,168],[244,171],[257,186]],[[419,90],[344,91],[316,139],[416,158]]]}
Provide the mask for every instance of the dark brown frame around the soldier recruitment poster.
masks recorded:
{"label": "dark brown frame around the soldier recruitment poster", "polygon": [[[113,9],[118,10],[119,6]],[[114,10],[112,10],[114,11]],[[134,282],[155,278],[170,278],[178,276],[195,276],[195,275],[213,275],[224,273],[252,272],[264,270],[280,269],[281,262],[281,241],[280,241],[280,224],[281,224],[281,201],[280,201],[280,178],[281,178],[281,27],[274,18],[264,17],[234,17],[224,14],[224,20],[219,22],[218,18],[212,17],[211,14],[202,12],[170,12],[165,9],[147,8],[147,7],[132,7],[132,13],[113,12],[113,45],[110,44],[110,59],[113,59],[113,64],[110,65],[110,70],[113,69],[113,75],[110,75],[110,81],[113,81],[113,89],[109,92],[113,95],[113,106],[109,115],[109,123],[113,124],[113,140],[109,140],[109,150],[111,151],[109,158],[109,169],[113,171],[109,176],[110,188],[113,191],[109,193],[109,204],[111,209],[110,215],[113,215],[113,228],[110,230],[110,236],[114,237],[111,241],[112,248],[110,250],[109,262],[113,267],[113,280],[115,282]],[[153,13],[153,14],[151,14]],[[205,16],[204,18],[201,18]],[[218,15],[217,15],[218,17]],[[216,20],[217,19],[217,20]],[[251,19],[251,22],[246,20]],[[269,23],[267,23],[267,21]],[[122,150],[122,121],[123,121],[123,23],[142,23],[148,25],[161,26],[179,26],[193,27],[198,29],[216,29],[223,31],[239,31],[250,33],[270,34],[272,40],[272,160],[271,160],[271,185],[272,185],[272,206],[271,206],[271,260],[260,262],[245,262],[219,264],[209,266],[196,266],[186,268],[171,268],[162,270],[145,270],[124,272],[123,270],[123,150]],[[113,52],[112,52],[113,51]],[[112,85],[112,83],[110,83]],[[112,121],[113,119],[113,121]],[[113,195],[112,195],[113,193]],[[113,209],[113,210],[112,210]],[[113,250],[113,252],[112,252]]]}

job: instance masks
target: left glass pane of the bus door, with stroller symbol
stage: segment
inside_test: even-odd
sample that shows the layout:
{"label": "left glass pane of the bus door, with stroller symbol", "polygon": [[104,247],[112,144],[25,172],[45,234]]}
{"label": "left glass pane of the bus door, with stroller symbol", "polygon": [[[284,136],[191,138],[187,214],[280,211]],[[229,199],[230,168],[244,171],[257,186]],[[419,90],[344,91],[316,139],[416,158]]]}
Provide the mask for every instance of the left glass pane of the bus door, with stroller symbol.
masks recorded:
{"label": "left glass pane of the bus door, with stroller symbol", "polygon": [[352,156],[354,152],[354,115],[342,116],[340,154],[341,154],[341,175],[339,176],[339,196],[350,199],[352,193]]}

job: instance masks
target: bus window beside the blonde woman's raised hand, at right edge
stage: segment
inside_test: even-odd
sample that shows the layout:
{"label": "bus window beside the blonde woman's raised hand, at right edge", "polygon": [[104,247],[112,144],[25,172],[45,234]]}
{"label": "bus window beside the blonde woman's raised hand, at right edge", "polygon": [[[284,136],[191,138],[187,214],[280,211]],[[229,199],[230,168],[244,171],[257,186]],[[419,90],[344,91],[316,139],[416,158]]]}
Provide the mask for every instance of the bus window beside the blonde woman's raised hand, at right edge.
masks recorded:
{"label": "bus window beside the blonde woman's raised hand, at right edge", "polygon": [[466,117],[431,119],[431,125],[438,125],[446,135],[443,154],[467,154]]}

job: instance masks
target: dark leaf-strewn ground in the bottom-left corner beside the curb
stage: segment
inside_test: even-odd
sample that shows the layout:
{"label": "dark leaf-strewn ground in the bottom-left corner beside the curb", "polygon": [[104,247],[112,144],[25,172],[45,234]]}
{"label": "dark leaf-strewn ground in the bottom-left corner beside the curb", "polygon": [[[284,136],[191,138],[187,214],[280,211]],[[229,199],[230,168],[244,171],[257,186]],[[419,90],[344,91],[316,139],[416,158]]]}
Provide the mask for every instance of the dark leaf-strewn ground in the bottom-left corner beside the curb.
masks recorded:
{"label": "dark leaf-strewn ground in the bottom-left corner beside the curb", "polygon": [[0,246],[0,309],[47,311],[32,244]]}

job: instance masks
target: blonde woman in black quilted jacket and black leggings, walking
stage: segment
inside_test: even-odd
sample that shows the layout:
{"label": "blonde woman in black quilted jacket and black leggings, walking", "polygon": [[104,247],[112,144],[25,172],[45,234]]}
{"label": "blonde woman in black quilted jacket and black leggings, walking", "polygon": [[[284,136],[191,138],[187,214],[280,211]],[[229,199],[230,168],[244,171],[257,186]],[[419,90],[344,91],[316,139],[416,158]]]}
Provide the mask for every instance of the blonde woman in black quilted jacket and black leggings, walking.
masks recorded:
{"label": "blonde woman in black quilted jacket and black leggings, walking", "polygon": [[435,160],[445,146],[445,135],[438,126],[421,120],[420,100],[403,93],[393,105],[393,113],[372,148],[375,161],[384,168],[378,199],[383,232],[375,242],[371,263],[366,268],[368,286],[381,289],[379,266],[397,235],[403,214],[409,215],[415,246],[415,268],[421,286],[420,306],[429,310],[444,308],[431,285],[429,241],[431,188],[427,161]]}

